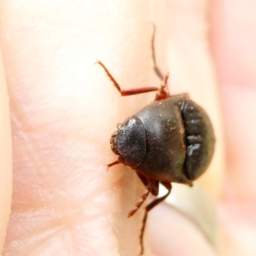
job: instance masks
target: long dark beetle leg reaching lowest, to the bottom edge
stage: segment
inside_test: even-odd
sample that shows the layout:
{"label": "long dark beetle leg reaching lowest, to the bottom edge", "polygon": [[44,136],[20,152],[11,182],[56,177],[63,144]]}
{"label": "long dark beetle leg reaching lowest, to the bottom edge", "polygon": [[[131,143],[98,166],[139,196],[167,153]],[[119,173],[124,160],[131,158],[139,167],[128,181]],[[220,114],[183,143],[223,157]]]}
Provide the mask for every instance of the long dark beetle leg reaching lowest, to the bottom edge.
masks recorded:
{"label": "long dark beetle leg reaching lowest, to the bottom edge", "polygon": [[144,215],[144,218],[143,218],[143,226],[142,226],[141,235],[140,235],[140,244],[141,244],[141,253],[140,253],[140,255],[142,255],[143,251],[144,251],[143,235],[144,235],[144,230],[145,230],[145,226],[146,226],[146,221],[147,221],[147,218],[148,218],[148,212],[152,208],[156,207],[161,201],[164,201],[166,199],[166,197],[168,195],[170,195],[170,193],[171,193],[172,183],[167,183],[167,182],[161,182],[161,183],[166,187],[166,189],[168,189],[168,192],[166,193],[166,195],[163,195],[162,197],[157,198],[154,201],[152,201],[151,203],[149,203],[148,206],[146,207],[145,215]]}

